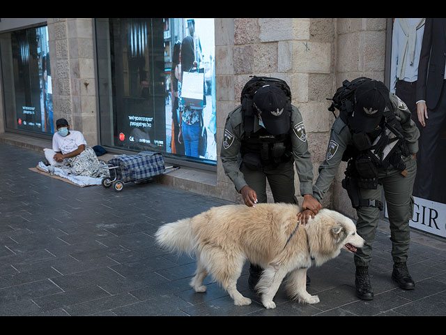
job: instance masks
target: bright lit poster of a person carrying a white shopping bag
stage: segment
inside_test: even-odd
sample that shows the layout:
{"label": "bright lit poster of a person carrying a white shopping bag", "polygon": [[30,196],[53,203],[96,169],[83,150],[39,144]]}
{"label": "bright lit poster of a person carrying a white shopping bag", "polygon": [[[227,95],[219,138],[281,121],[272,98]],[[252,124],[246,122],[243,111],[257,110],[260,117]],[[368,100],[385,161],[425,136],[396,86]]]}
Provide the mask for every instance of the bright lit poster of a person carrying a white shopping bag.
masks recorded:
{"label": "bright lit poster of a person carrying a white shopping bag", "polygon": [[[170,20],[169,29],[183,27],[184,34],[171,44],[171,71],[166,80],[167,152],[217,161],[214,19]],[[203,136],[206,149],[200,153]]]}

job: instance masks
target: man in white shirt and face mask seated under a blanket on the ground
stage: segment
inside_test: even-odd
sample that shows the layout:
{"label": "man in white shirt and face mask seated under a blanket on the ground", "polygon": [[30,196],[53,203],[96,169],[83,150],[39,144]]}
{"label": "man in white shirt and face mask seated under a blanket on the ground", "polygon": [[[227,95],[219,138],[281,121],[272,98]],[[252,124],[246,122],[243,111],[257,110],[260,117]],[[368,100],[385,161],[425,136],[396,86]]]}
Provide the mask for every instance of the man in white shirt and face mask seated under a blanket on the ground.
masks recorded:
{"label": "man in white shirt and face mask seated under a blanket on the ground", "polygon": [[80,131],[70,130],[66,119],[58,119],[56,129],[52,149],[44,149],[50,165],[68,168],[69,173],[80,176],[108,177],[108,170],[102,168],[95,151],[87,146]]}

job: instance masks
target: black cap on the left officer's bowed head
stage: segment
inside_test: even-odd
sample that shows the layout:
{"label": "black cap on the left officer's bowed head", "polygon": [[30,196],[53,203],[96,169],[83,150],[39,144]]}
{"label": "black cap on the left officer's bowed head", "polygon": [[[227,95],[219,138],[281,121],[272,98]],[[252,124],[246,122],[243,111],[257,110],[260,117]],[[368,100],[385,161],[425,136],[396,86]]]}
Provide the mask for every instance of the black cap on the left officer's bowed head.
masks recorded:
{"label": "black cap on the left officer's bowed head", "polygon": [[268,133],[272,135],[288,133],[290,129],[288,99],[282,89],[265,85],[254,93],[252,101]]}

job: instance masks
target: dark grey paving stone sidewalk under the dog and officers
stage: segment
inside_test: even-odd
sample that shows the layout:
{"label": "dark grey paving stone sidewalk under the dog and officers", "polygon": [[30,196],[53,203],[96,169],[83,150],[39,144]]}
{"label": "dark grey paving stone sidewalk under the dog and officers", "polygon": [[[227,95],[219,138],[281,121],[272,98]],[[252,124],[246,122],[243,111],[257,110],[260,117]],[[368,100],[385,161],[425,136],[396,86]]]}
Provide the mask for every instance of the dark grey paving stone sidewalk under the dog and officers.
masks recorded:
{"label": "dark grey paving stone sidewalk under the dog and officers", "polygon": [[[263,308],[238,281],[249,306],[206,278],[206,293],[189,286],[195,260],[157,248],[163,223],[230,202],[161,184],[128,184],[121,193],[80,188],[32,172],[43,154],[0,144],[0,315],[446,315],[446,254],[413,242],[413,291],[391,281],[390,235],[378,230],[370,268],[375,298],[355,296],[353,255],[341,252],[309,270],[319,304],[289,301]],[[446,244],[446,242],[445,242]]]}

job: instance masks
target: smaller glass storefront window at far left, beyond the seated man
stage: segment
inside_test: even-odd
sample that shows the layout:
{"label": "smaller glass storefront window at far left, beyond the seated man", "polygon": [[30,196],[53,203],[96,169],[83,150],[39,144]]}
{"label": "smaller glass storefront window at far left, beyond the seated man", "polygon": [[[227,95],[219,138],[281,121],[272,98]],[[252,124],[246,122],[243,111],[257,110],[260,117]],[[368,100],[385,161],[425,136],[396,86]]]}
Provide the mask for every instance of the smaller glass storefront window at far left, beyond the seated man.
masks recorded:
{"label": "smaller glass storefront window at far left, beyond the seated man", "polygon": [[0,34],[6,129],[52,135],[47,26]]}

